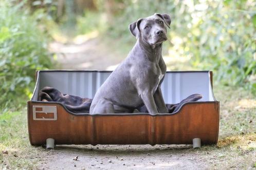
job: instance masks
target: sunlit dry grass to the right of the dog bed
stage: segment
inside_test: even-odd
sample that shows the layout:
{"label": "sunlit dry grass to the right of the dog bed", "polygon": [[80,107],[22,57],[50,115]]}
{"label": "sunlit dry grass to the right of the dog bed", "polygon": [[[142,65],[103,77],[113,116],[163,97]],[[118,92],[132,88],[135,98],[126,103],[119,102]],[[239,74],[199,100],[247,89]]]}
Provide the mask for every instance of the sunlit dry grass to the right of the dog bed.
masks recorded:
{"label": "sunlit dry grass to the right of the dog bed", "polygon": [[[214,86],[215,85],[215,86]],[[220,134],[216,146],[207,146],[213,169],[248,169],[256,162],[255,97],[241,87],[213,82],[220,100]]]}

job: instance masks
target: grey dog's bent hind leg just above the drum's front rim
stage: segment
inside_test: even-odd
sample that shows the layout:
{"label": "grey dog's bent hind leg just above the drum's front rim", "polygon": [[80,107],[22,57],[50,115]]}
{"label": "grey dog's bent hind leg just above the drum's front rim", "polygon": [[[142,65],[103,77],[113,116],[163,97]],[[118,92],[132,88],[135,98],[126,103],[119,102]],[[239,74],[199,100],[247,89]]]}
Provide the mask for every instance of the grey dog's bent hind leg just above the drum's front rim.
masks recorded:
{"label": "grey dog's bent hind leg just above the drum's front rim", "polygon": [[104,113],[115,113],[115,110],[114,110],[114,104],[112,103],[112,101],[102,98],[95,105],[95,108],[93,109],[92,114],[104,114]]}

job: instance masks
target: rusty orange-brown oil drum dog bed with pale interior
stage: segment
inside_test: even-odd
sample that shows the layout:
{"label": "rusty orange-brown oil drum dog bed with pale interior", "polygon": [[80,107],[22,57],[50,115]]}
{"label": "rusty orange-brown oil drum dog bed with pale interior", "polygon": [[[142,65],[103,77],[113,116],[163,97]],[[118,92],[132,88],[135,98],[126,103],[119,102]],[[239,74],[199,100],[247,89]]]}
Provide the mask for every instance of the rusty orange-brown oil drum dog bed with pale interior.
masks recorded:
{"label": "rusty orange-brown oil drum dog bed with pale interior", "polygon": [[63,93],[93,98],[111,71],[47,70],[36,72],[34,92],[28,104],[31,145],[54,144],[216,144],[220,104],[212,91],[211,71],[169,71],[161,84],[166,103],[178,103],[191,94],[174,113],[73,113],[61,102],[40,101],[39,92],[52,87]]}

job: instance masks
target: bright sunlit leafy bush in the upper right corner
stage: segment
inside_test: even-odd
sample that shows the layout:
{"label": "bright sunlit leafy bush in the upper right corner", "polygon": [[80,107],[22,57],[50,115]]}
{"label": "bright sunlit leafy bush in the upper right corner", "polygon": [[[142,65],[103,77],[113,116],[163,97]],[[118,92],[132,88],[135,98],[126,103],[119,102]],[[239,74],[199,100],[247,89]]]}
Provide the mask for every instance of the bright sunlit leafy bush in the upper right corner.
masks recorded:
{"label": "bright sunlit leafy bush in the upper right corner", "polygon": [[181,46],[187,49],[186,55],[191,56],[196,68],[214,70],[217,80],[224,84],[246,84],[254,92],[256,31],[250,11],[255,3],[224,4],[197,4],[205,9],[188,14],[186,23],[191,32],[187,32]]}

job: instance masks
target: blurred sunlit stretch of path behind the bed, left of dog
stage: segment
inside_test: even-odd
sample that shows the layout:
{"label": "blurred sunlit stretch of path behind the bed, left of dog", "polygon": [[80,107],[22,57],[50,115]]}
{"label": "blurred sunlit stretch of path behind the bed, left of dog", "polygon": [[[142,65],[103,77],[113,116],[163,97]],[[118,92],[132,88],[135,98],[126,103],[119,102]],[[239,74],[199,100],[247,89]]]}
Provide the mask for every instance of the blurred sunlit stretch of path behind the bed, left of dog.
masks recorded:
{"label": "blurred sunlit stretch of path behind the bed, left of dog", "polygon": [[111,50],[112,46],[106,47],[101,39],[93,38],[80,45],[53,42],[50,50],[57,54],[61,69],[113,70],[126,56]]}

